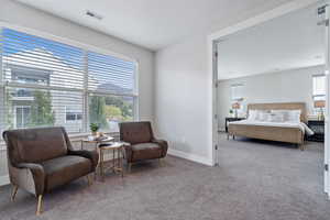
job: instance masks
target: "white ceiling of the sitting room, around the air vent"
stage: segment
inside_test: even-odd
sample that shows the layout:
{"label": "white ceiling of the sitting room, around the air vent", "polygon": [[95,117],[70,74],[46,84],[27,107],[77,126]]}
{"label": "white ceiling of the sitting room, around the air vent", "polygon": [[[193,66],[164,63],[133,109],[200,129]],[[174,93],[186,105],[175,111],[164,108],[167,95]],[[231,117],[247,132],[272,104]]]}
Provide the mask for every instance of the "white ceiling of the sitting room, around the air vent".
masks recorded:
{"label": "white ceiling of the sitting room, around the air vent", "polygon": [[[152,51],[288,0],[16,0]],[[102,19],[86,15],[90,11]]]}

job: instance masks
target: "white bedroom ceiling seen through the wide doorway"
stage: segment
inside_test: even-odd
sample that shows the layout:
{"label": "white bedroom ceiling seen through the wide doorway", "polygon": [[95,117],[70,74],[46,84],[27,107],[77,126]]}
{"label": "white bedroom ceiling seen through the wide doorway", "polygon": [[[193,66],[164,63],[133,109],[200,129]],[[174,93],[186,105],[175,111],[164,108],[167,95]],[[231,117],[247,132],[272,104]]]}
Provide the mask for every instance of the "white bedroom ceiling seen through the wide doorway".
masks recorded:
{"label": "white bedroom ceiling seen through the wide doorway", "polygon": [[324,26],[317,7],[224,37],[218,45],[218,78],[230,79],[324,64]]}

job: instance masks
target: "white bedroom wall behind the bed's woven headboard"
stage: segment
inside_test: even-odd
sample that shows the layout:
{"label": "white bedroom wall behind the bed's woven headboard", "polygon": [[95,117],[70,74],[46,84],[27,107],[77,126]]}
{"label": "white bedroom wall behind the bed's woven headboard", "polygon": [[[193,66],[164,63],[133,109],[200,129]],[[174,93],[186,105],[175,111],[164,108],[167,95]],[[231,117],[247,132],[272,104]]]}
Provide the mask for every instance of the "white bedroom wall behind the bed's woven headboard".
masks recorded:
{"label": "white bedroom wall behind the bed's woven headboard", "polygon": [[229,116],[231,108],[231,85],[244,85],[241,89],[242,98],[244,98],[242,102],[243,112],[246,112],[248,103],[306,102],[307,113],[311,114],[312,75],[323,72],[324,66],[316,66],[220,80],[218,87],[219,129],[224,130],[224,118]]}

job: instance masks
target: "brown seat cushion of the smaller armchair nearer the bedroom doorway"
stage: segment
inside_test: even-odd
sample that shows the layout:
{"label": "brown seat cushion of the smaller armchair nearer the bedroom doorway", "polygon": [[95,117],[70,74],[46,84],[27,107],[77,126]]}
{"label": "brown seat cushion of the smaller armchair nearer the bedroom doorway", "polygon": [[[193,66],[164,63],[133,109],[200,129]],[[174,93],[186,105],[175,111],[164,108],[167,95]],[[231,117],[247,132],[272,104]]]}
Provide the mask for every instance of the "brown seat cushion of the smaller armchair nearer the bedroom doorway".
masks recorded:
{"label": "brown seat cushion of the smaller armchair nearer the bedroom doorway", "polygon": [[153,160],[162,157],[162,147],[157,143],[141,143],[132,146],[133,161]]}

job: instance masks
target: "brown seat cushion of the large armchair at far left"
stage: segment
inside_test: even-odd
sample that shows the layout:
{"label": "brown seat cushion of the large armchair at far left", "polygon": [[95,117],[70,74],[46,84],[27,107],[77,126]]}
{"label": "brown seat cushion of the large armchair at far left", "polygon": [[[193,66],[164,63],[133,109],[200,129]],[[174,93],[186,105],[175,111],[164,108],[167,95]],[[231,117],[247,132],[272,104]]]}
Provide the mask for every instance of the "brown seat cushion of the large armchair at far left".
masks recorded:
{"label": "brown seat cushion of the large armchair at far left", "polygon": [[89,174],[92,170],[91,161],[82,156],[61,156],[41,163],[45,172],[45,190]]}

